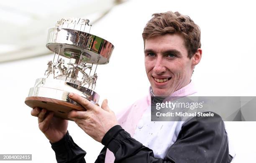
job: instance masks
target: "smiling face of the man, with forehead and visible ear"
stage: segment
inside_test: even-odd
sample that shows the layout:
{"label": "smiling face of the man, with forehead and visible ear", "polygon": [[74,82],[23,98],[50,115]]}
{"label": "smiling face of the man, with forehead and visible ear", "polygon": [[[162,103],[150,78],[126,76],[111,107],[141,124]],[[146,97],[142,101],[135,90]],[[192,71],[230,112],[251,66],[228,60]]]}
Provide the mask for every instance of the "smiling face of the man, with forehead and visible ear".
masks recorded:
{"label": "smiling face of the man, with forehead and visible ear", "polygon": [[146,39],[144,53],[146,73],[154,94],[169,96],[189,84],[202,51],[197,50],[189,59],[184,39],[178,34],[165,34]]}

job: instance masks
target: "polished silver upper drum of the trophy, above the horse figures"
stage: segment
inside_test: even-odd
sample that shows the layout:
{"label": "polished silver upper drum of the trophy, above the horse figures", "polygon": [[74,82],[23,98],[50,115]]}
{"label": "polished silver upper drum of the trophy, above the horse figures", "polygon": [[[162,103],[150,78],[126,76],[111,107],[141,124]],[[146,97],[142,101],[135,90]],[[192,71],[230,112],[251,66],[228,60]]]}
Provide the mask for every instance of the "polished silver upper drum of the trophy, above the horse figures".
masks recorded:
{"label": "polished silver upper drum of the trophy, above the horse figures", "polygon": [[[109,63],[114,45],[96,35],[67,28],[50,28],[46,47],[66,58],[79,58],[95,64]],[[61,47],[61,48],[60,48]]]}

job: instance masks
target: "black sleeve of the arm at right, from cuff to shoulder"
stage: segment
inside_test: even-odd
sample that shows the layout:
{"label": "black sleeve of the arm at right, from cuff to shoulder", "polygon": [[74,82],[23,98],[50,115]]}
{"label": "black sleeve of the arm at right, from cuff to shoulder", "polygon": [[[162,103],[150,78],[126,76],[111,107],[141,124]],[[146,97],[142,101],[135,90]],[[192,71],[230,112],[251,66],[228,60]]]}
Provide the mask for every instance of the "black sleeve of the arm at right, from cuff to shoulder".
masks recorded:
{"label": "black sleeve of the arm at right, from cuff to shoulder", "polygon": [[[162,140],[166,141],[166,140]],[[183,124],[164,159],[131,138],[120,125],[111,128],[102,144],[115,155],[115,163],[229,163],[228,137],[219,115],[194,117]]]}

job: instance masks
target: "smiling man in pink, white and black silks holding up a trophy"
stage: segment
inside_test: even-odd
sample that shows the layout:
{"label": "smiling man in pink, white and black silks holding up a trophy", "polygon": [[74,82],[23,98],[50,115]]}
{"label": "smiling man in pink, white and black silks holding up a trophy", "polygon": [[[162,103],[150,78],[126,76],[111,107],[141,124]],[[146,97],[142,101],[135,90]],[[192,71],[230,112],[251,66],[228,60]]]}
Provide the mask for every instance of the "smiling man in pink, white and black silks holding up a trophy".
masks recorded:
{"label": "smiling man in pink, white and black silks holding up a trophy", "polygon": [[[200,28],[178,12],[156,13],[142,33],[149,95],[127,108],[118,120],[104,100],[101,107],[79,95],[69,97],[86,112],[71,111],[85,133],[105,147],[97,163],[230,163],[228,138],[220,116],[194,117],[186,122],[151,122],[150,96],[187,96],[202,49]],[[67,132],[67,120],[34,108],[40,130],[50,140],[58,162],[85,163],[84,150]]]}

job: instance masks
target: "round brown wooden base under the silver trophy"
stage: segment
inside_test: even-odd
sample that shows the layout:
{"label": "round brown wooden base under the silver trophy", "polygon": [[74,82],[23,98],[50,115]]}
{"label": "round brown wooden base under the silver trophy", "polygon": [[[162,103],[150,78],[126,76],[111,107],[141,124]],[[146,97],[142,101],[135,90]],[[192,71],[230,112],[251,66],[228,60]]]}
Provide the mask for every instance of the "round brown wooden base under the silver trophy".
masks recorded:
{"label": "round brown wooden base under the silver trophy", "polygon": [[31,108],[39,107],[46,110],[53,111],[55,117],[71,120],[67,118],[69,111],[79,110],[86,111],[82,106],[67,103],[61,100],[44,97],[27,97],[25,100],[26,105]]}

